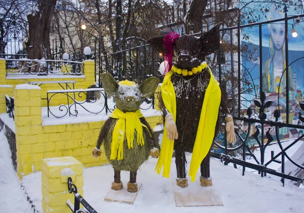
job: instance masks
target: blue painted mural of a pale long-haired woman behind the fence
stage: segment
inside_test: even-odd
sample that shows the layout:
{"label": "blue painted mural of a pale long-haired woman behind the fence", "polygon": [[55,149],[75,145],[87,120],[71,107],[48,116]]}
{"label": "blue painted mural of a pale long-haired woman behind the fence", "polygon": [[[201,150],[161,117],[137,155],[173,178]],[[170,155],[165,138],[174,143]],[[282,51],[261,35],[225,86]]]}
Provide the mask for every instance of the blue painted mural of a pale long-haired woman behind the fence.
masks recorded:
{"label": "blue painted mural of a pale long-haired woman behind the fence", "polygon": [[[302,14],[302,7],[288,8],[288,16]],[[275,4],[264,12],[265,20],[276,20],[285,17],[283,8],[277,7]],[[242,45],[248,45],[248,54],[243,54],[242,64],[248,69],[252,77],[252,82],[256,85],[255,89],[259,94],[260,89],[265,92],[267,99],[272,100],[273,104],[268,109],[268,119],[273,118],[276,109],[280,110],[281,119],[287,122],[287,113],[289,113],[290,124],[300,124],[298,117],[300,113],[299,102],[303,101],[304,95],[304,22],[296,19],[288,21],[288,38],[285,37],[285,21],[279,21],[262,25],[261,37],[259,35],[258,26],[245,28],[248,33],[247,40],[242,41]],[[293,32],[293,33],[292,33]],[[286,39],[288,39],[288,64],[286,70]],[[259,46],[259,43],[262,46]],[[260,48],[262,54],[260,55]],[[262,72],[260,75],[260,63]],[[245,73],[244,73],[245,75]],[[287,77],[288,75],[288,77]],[[260,78],[262,85],[260,85]],[[288,87],[287,90],[287,79]],[[289,102],[286,102],[286,97]],[[254,92],[244,94],[244,109],[250,107],[255,108],[253,99]],[[289,112],[286,112],[286,105],[289,106]],[[265,126],[266,131],[274,133],[270,126]],[[289,139],[298,137],[302,132],[298,129],[280,129],[281,139]]]}

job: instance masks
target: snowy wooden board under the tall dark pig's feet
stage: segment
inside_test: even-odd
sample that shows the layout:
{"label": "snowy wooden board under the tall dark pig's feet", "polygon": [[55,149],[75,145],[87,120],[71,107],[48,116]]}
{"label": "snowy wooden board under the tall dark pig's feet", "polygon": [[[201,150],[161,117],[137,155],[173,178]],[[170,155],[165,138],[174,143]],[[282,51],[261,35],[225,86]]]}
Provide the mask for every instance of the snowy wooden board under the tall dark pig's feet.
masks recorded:
{"label": "snowy wooden board under the tall dark pig's feet", "polygon": [[174,183],[174,198],[176,206],[223,205],[216,190],[211,187],[201,187],[199,183],[189,183],[184,189]]}

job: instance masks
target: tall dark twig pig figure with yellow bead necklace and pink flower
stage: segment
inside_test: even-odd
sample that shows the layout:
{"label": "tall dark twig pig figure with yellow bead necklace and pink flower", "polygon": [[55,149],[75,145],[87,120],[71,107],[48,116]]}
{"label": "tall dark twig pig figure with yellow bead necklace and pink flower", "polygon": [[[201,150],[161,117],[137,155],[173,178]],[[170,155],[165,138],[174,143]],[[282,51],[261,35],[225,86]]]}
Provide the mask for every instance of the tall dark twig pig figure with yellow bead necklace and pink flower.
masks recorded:
{"label": "tall dark twig pig figure with yellow bead necklace and pink flower", "polygon": [[160,173],[163,169],[162,174],[169,177],[174,149],[177,185],[187,187],[185,152],[193,153],[189,168],[191,181],[195,181],[201,168],[201,186],[211,186],[210,149],[219,127],[219,108],[227,116],[227,140],[236,140],[226,97],[204,61],[219,48],[219,27],[212,28],[201,37],[179,37],[176,32],[170,32],[148,42],[164,53],[168,61],[159,97],[165,129],[156,170]]}

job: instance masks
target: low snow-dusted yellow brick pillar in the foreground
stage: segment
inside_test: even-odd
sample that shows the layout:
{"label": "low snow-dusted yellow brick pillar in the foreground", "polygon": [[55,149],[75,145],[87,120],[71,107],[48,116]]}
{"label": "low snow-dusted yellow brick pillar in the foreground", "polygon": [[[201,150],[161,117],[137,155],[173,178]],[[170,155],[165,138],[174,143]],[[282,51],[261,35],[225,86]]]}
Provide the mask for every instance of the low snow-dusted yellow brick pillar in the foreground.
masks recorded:
{"label": "low snow-dusted yellow brick pillar in the foreground", "polygon": [[[73,193],[67,190],[67,179],[71,177],[83,196],[83,165],[73,157],[61,157],[42,160],[41,192],[44,212],[70,212],[66,205],[69,199],[74,203]],[[83,207],[83,206],[81,206]]]}

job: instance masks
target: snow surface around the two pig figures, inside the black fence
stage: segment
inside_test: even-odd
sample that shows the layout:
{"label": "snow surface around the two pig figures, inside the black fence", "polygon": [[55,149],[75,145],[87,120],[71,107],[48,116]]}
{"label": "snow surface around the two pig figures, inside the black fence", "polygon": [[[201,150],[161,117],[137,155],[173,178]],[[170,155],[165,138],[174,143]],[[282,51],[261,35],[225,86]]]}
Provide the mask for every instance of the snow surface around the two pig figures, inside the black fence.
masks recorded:
{"label": "snow surface around the two pig figures, inside the black fence", "polygon": [[[187,161],[190,162],[191,154],[187,154]],[[224,166],[218,159],[211,158],[211,176],[213,186],[203,188],[200,186],[199,173],[195,183],[189,181],[188,188],[192,189],[214,190],[219,194],[223,206],[205,206],[205,207],[176,207],[174,201],[173,184],[175,184],[175,159],[172,159],[170,178],[166,179],[157,174],[154,169],[157,159],[149,158],[141,169],[137,172],[137,182],[142,183],[136,200],[133,205],[106,202],[104,197],[110,190],[113,181],[113,169],[110,165],[90,167],[84,169],[84,198],[92,205],[97,212],[275,212],[288,213],[303,212],[304,189],[297,188],[292,184],[286,184],[282,187],[281,182],[274,181],[269,177],[260,177],[251,172],[245,172],[242,176],[242,170],[230,166]],[[187,167],[189,168],[189,167]],[[36,207],[41,205],[41,172],[29,174],[23,178],[22,184],[29,197],[34,199]],[[129,172],[122,171],[122,182],[127,186]],[[188,179],[189,180],[189,179]],[[41,208],[41,207],[40,207]],[[122,211],[123,209],[123,211]]]}

